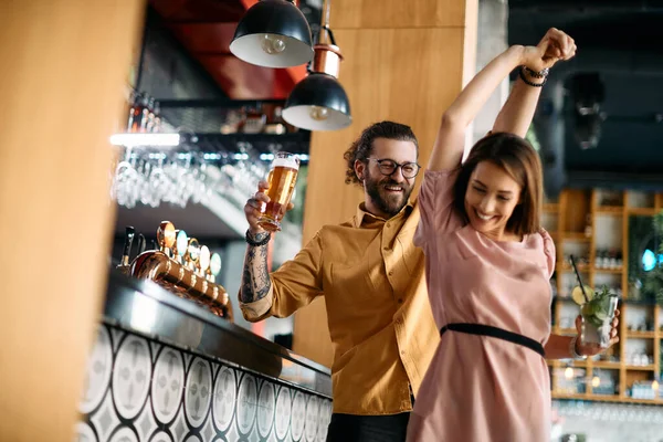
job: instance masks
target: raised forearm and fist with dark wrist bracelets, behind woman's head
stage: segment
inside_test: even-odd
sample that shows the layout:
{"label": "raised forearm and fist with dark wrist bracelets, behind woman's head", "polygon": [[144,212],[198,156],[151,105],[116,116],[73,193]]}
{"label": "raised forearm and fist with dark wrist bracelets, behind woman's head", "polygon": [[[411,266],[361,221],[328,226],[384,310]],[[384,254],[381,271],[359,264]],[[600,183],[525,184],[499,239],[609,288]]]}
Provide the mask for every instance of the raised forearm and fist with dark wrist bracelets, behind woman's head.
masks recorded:
{"label": "raised forearm and fist with dark wrist bracelets, behind woman's head", "polygon": [[[562,31],[551,28],[537,44],[537,48],[547,48],[545,59],[552,62],[566,61],[576,55],[576,42]],[[533,70],[532,66],[527,66]],[[533,86],[523,81],[524,75],[532,84],[545,83],[545,77],[532,75],[527,70],[518,73],[515,85],[508,99],[499,110],[493,131],[507,131],[525,137],[536,110],[541,87]]]}

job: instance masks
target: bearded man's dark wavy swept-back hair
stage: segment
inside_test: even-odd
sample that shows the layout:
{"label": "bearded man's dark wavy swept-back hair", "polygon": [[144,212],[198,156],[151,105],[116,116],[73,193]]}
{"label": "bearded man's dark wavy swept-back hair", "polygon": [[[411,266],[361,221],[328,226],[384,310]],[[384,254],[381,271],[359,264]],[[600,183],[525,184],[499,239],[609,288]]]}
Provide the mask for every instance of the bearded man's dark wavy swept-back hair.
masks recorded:
{"label": "bearded man's dark wavy swept-back hair", "polygon": [[368,126],[359,138],[352,143],[350,148],[343,156],[347,161],[346,185],[361,185],[357,173],[355,173],[355,161],[364,164],[372,154],[372,145],[376,138],[396,139],[398,141],[412,141],[417,146],[417,156],[419,156],[419,143],[410,126],[393,122],[380,122]]}

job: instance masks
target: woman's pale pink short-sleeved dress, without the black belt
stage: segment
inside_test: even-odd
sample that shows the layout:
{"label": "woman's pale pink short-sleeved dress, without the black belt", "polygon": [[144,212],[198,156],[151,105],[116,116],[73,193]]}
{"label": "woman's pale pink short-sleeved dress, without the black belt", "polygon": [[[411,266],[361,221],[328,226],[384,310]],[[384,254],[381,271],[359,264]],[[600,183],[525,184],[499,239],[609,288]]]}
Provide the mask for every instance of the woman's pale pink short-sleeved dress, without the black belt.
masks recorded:
{"label": "woman's pale pink short-sleeved dress, without the black belt", "polygon": [[[545,345],[555,244],[548,233],[497,242],[453,208],[457,170],[427,171],[414,243],[425,253],[439,327],[499,327]],[[550,381],[544,358],[499,338],[445,332],[419,389],[408,441],[548,442]]]}

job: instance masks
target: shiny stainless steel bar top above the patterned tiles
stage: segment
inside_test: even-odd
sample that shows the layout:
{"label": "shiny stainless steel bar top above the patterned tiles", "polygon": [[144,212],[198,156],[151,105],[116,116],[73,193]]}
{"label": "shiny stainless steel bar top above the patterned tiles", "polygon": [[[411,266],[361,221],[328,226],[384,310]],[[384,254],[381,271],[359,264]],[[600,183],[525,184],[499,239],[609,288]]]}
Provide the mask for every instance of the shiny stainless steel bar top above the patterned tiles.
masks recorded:
{"label": "shiny stainless steel bar top above the patterned tiles", "polygon": [[329,369],[220,318],[151,281],[112,270],[103,320],[332,399]]}

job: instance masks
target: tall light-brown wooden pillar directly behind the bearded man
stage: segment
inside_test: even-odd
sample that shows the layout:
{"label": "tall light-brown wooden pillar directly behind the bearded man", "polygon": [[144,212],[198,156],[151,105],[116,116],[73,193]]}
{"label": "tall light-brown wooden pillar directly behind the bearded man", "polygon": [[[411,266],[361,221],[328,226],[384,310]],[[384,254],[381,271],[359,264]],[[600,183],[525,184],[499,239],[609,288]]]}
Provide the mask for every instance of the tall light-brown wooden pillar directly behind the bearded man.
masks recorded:
{"label": "tall light-brown wooden pillar directly behind the bearded man", "polygon": [[[344,54],[339,81],[352,125],[314,133],[304,212],[304,241],[323,225],[349,219],[362,200],[344,183],[344,151],[372,123],[410,125],[425,164],[440,116],[474,75],[477,0],[333,0],[330,28]],[[351,308],[348,306],[348,308]],[[323,299],[295,315],[294,350],[332,366]]]}

